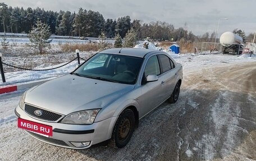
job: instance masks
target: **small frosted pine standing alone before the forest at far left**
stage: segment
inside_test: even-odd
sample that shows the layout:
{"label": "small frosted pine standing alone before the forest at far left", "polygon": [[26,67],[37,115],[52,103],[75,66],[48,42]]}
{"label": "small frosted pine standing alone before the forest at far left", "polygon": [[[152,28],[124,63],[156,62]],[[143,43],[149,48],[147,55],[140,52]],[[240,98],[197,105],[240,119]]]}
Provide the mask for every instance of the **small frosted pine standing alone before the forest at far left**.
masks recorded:
{"label": "small frosted pine standing alone before the forest at far left", "polygon": [[52,40],[48,40],[51,36],[50,27],[39,19],[36,21],[36,26],[33,26],[28,36],[30,42],[34,44],[36,49],[39,49],[40,53],[43,53],[43,48],[52,42]]}

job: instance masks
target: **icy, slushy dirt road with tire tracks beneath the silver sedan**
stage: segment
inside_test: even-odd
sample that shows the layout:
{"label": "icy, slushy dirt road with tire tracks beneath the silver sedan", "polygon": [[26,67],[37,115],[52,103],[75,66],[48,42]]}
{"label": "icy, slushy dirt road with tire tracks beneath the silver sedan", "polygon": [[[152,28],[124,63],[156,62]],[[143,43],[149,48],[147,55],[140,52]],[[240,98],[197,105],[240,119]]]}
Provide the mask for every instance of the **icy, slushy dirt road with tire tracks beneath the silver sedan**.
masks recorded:
{"label": "icy, slushy dirt road with tire tracks beneath the silver sedan", "polygon": [[0,129],[0,160],[256,160],[256,62],[184,73],[178,102],[141,119],[125,148],[58,148],[12,122]]}

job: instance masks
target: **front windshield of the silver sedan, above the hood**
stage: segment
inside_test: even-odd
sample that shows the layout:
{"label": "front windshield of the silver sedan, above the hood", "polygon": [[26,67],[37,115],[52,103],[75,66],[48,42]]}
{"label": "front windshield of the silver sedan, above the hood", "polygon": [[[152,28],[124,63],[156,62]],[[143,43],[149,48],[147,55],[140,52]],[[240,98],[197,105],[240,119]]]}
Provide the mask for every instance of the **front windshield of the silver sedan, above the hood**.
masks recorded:
{"label": "front windshield of the silver sedan, above the hood", "polygon": [[143,58],[119,54],[95,54],[74,74],[103,81],[135,84]]}

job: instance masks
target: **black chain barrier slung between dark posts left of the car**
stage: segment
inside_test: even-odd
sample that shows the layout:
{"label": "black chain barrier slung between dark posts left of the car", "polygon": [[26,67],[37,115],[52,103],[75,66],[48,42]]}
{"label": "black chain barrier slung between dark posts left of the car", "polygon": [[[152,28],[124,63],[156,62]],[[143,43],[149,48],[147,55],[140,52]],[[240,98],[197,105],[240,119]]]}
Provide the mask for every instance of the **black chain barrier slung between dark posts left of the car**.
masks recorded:
{"label": "black chain barrier slung between dark posts left of the car", "polygon": [[65,63],[65,64],[63,64],[63,65],[61,65],[61,66],[57,66],[57,67],[53,67],[53,68],[47,68],[47,69],[30,69],[30,68],[24,68],[24,67],[13,66],[13,65],[10,65],[10,64],[8,64],[8,63],[6,63],[6,62],[3,62],[3,61],[2,61],[2,57],[1,57],[1,55],[0,55],[0,71],[1,71],[2,81],[3,81],[3,82],[6,82],[5,77],[4,77],[3,65],[4,65],[4,66],[8,66],[8,67],[12,67],[12,68],[17,68],[17,69],[19,69],[19,70],[26,70],[26,71],[49,71],[49,70],[55,70],[55,69],[57,69],[57,68],[61,68],[61,67],[63,67],[63,66],[66,66],[66,65],[70,64],[71,62],[75,61],[76,59],[77,59],[77,63],[78,63],[78,64],[80,64],[80,60],[79,60],[79,59],[82,59],[83,61],[86,61],[86,59],[81,58],[81,57],[79,56],[79,53],[77,53],[77,57],[71,59],[71,61],[69,61],[69,62],[67,62],[67,63]]}

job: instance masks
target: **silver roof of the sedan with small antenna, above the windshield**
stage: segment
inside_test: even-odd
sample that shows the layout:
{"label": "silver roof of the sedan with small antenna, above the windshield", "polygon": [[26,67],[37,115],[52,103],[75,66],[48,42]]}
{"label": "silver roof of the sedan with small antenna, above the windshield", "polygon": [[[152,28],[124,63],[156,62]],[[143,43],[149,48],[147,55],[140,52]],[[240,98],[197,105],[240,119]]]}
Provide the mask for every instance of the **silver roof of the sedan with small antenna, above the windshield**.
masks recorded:
{"label": "silver roof of the sedan with small antenna, above the windshield", "polygon": [[102,50],[99,53],[106,53],[106,54],[121,54],[125,56],[133,56],[133,57],[140,57],[143,58],[148,53],[156,53],[160,52],[158,50],[152,49],[139,49],[139,48],[112,48]]}

